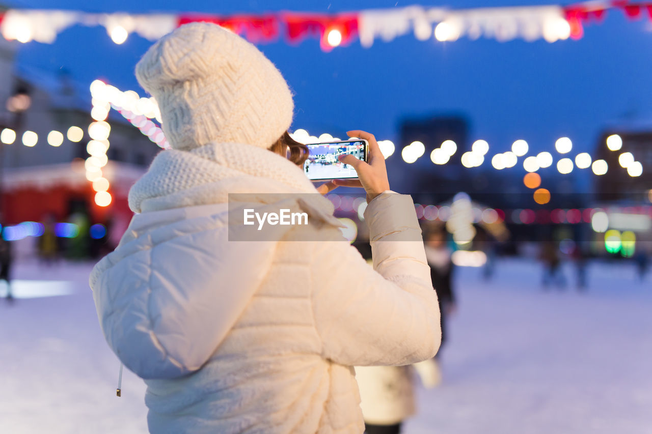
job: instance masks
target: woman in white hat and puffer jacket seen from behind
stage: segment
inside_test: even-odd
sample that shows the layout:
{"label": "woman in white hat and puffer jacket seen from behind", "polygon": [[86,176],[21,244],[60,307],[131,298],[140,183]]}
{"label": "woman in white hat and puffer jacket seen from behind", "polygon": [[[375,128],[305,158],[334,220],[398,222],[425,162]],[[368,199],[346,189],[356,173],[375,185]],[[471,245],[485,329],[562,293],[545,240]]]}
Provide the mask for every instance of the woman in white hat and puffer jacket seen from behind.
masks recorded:
{"label": "woman in white hat and puffer jacket seen from behind", "polygon": [[[351,366],[418,362],[440,340],[413,204],[389,192],[374,136],[349,132],[369,141],[370,162],[344,156],[360,181],[321,192],[364,187],[375,270],[297,166],[291,93],[254,46],[217,25],[184,25],[136,76],[173,149],[130,190],[137,214],[91,287],[108,343],[147,383],[149,430],[361,433]],[[279,200],[308,226],[241,241],[252,232],[235,210]]]}

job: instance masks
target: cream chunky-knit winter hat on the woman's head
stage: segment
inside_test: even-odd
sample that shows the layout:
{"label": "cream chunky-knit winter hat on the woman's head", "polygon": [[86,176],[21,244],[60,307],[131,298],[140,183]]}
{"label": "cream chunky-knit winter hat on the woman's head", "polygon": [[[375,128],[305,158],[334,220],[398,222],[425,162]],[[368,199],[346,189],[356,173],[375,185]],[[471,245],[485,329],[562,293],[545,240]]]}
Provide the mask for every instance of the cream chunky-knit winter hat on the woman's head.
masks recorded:
{"label": "cream chunky-knit winter hat on the woman's head", "polygon": [[136,78],[156,98],[173,149],[269,148],[292,122],[292,94],[276,66],[216,24],[189,23],[163,36],[136,65]]}

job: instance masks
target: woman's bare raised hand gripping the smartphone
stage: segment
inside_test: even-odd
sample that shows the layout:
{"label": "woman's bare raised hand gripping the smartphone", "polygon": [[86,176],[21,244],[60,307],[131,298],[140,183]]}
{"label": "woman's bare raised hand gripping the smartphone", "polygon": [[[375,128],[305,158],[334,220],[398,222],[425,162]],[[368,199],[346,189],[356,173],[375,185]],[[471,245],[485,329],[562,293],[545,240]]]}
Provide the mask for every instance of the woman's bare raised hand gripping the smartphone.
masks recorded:
{"label": "woman's bare raised hand gripping the smartphone", "polygon": [[[362,187],[366,192],[367,203],[372,201],[374,197],[389,190],[389,181],[387,180],[387,169],[385,168],[385,157],[380,152],[376,137],[361,130],[353,130],[346,132],[349,137],[360,137],[369,143],[368,163],[358,160],[353,155],[346,154],[340,155],[340,161],[345,164],[350,164],[358,174],[359,179],[334,179],[326,184],[333,184],[334,187]],[[323,187],[323,184],[319,188]],[[318,188],[318,190],[319,190]],[[327,192],[333,190],[327,190]]]}

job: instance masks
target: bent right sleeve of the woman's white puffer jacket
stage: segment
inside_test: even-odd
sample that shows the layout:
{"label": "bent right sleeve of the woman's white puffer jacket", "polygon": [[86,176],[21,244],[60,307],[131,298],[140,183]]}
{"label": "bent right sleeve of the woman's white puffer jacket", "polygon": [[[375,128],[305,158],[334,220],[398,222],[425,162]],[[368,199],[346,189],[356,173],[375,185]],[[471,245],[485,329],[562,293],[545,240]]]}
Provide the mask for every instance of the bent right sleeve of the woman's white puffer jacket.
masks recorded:
{"label": "bent right sleeve of the woman's white puffer jacket", "polygon": [[385,192],[364,212],[373,268],[346,242],[314,252],[312,303],[323,354],[348,366],[406,365],[441,342],[421,229],[409,195]]}

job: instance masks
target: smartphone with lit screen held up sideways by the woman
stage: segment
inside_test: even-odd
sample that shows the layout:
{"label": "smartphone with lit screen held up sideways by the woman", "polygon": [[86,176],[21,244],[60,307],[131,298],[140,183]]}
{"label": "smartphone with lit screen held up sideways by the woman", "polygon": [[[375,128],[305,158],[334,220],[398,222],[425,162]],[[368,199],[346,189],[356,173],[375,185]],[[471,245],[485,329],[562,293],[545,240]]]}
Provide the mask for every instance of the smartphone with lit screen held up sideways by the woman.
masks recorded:
{"label": "smartphone with lit screen held up sideways by the woman", "polygon": [[303,164],[303,173],[310,181],[357,179],[358,174],[353,166],[340,162],[338,156],[351,154],[366,162],[369,147],[364,139],[312,143],[306,146],[310,154]]}

